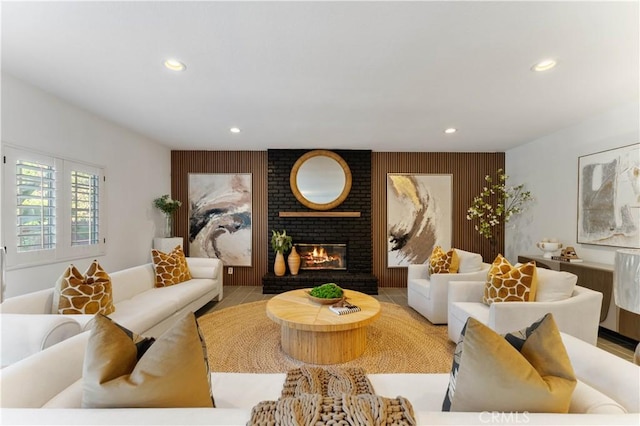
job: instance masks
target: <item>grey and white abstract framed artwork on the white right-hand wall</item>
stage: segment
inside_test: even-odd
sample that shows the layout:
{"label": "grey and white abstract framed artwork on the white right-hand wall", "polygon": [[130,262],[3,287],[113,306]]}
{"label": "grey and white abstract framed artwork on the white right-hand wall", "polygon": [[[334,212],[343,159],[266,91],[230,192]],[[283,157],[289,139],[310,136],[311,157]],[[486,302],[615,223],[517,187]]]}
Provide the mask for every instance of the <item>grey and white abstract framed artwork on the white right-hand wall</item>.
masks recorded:
{"label": "grey and white abstract framed artwork on the white right-hand wall", "polygon": [[578,158],[581,244],[640,248],[640,144]]}

